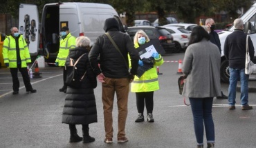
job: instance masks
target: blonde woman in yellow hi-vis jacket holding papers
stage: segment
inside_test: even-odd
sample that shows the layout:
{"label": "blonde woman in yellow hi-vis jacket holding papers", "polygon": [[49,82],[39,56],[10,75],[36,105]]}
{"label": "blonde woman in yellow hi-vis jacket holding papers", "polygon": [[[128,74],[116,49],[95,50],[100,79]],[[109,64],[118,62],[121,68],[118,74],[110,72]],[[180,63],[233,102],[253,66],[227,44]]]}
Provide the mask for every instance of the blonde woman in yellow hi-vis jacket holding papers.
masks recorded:
{"label": "blonde woman in yellow hi-vis jacket holding papers", "polygon": [[[143,30],[138,30],[134,36],[134,46],[138,48],[140,45],[149,42],[149,37]],[[153,118],[153,107],[154,107],[154,91],[159,89],[157,66],[163,64],[163,58],[157,52],[152,54],[152,57],[147,61],[152,60],[152,68],[147,70],[140,78],[135,76],[134,81],[131,83],[131,92],[136,93],[136,105],[138,109],[138,118],[135,120],[136,123],[144,121],[144,107],[147,109],[147,121],[154,123]],[[138,65],[143,66],[144,59],[138,61]]]}

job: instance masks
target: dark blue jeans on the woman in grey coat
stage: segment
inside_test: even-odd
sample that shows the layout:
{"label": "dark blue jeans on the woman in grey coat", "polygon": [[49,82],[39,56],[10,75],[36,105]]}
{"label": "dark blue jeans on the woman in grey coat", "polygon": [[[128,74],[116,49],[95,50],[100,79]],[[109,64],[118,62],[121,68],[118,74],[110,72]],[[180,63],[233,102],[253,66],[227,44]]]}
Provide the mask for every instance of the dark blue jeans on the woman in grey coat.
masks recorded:
{"label": "dark blue jeans on the woman in grey coat", "polygon": [[214,142],[214,123],[212,120],[212,101],[211,98],[190,98],[190,105],[194,118],[194,132],[196,142],[203,145],[203,124],[205,127],[207,142]]}

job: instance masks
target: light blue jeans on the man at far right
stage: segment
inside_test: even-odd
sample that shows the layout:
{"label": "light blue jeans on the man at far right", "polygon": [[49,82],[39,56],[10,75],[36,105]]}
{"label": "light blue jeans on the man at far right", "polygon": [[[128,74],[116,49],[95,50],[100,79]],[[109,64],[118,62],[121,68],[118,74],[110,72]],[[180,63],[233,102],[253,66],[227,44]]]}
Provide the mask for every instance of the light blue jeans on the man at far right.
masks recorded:
{"label": "light blue jeans on the man at far right", "polygon": [[241,82],[241,105],[248,105],[248,79],[249,75],[244,73],[244,69],[229,68],[230,78],[228,87],[228,104],[235,105],[237,81]]}

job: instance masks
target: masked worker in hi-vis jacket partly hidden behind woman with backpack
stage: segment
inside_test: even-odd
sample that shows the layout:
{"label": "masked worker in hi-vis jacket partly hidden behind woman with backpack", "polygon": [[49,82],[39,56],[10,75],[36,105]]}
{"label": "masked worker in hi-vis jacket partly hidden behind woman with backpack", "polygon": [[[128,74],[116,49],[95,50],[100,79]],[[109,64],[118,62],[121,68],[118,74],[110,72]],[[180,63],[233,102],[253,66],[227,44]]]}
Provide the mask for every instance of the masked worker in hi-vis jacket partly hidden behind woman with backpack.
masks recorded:
{"label": "masked worker in hi-vis jacket partly hidden behind woman with backpack", "polygon": [[62,30],[60,32],[60,50],[57,55],[57,59],[55,61],[56,66],[63,67],[63,82],[64,85],[62,88],[60,88],[60,92],[66,93],[67,85],[65,83],[66,80],[66,70],[65,70],[65,63],[66,63],[66,57],[68,57],[69,50],[72,48],[75,48],[75,37],[71,35],[69,32],[68,27],[64,26],[62,27]]}

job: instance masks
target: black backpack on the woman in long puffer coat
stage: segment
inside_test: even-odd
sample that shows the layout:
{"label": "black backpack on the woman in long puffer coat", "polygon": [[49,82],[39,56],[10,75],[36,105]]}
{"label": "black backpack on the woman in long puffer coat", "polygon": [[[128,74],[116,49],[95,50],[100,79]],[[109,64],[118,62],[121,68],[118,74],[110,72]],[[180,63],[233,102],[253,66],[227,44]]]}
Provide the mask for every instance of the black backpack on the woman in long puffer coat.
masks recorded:
{"label": "black backpack on the woman in long puffer coat", "polygon": [[84,72],[84,75],[80,78],[79,73],[77,72],[77,65],[78,61],[84,56],[82,54],[77,61],[73,64],[73,59],[70,58],[70,64],[66,66],[66,85],[73,88],[80,88],[82,79],[84,78],[86,71]]}

